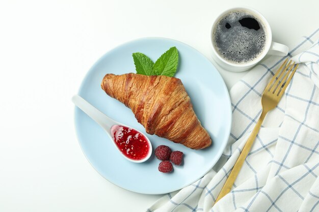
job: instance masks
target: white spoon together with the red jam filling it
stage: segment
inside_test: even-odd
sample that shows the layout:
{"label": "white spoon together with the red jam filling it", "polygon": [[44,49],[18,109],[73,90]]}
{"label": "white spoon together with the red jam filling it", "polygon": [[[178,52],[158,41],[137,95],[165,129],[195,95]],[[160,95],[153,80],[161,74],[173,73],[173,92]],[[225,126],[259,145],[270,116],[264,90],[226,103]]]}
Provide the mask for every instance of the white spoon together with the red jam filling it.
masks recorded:
{"label": "white spoon together with the red jam filling it", "polygon": [[118,150],[126,160],[134,163],[142,163],[150,158],[152,144],[143,133],[116,122],[78,95],[73,96],[72,102],[107,132],[116,146],[107,150]]}

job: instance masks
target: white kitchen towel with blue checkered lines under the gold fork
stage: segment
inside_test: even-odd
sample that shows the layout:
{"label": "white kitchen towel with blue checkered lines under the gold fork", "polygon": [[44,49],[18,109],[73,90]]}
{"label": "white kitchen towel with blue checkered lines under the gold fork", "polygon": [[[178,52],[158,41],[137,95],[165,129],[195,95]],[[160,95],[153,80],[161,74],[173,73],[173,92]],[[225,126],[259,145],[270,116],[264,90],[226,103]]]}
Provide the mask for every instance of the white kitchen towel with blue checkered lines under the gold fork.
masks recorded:
{"label": "white kitchen towel with blue checkered lines under the gold fork", "polygon": [[148,212],[319,211],[318,39],[319,28],[290,48],[286,57],[300,66],[279,105],[266,116],[232,191],[212,207],[258,120],[263,89],[286,57],[263,60],[231,89],[233,124],[219,163]]}

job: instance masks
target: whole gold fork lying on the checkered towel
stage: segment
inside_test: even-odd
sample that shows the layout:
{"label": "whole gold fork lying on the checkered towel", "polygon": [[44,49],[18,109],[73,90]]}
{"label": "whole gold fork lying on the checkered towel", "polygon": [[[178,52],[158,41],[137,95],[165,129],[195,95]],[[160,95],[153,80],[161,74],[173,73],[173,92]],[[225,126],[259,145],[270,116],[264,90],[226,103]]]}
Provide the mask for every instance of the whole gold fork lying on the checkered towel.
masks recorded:
{"label": "whole gold fork lying on the checkered towel", "polygon": [[[262,97],[261,97],[261,105],[262,105],[262,112],[261,115],[258,119],[258,122],[256,124],[256,126],[254,127],[253,131],[251,132],[244,148],[243,151],[241,153],[241,155],[238,157],[234,167],[232,168],[226,183],[224,184],[221,192],[219,193],[216,201],[218,202],[222,197],[224,197],[226,194],[228,194],[234,184],[234,181],[238,175],[238,173],[240,172],[245,159],[248,155],[248,153],[250,152],[250,148],[252,146],[252,144],[254,143],[254,140],[257,136],[257,133],[260,129],[260,126],[263,122],[264,117],[266,116],[266,114],[274,109],[279,100],[281,99],[285,89],[287,88],[291,78],[293,78],[298,64],[295,66],[295,62],[293,64],[291,64],[291,60],[289,61],[289,63],[287,64],[288,59],[286,59],[283,64],[280,66],[280,68],[278,69],[278,71],[276,72],[276,74],[273,76],[273,78],[271,79],[271,81],[268,83],[267,87],[264,89]],[[294,68],[294,70],[291,72],[291,70]]]}

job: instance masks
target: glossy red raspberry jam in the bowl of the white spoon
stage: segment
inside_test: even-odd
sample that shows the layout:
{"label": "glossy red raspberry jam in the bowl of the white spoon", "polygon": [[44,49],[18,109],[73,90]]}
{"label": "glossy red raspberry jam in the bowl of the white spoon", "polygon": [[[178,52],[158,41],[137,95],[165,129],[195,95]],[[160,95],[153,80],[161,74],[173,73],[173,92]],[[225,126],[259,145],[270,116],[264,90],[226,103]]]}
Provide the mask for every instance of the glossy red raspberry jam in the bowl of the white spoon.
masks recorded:
{"label": "glossy red raspberry jam in the bowl of the white spoon", "polygon": [[117,147],[129,159],[142,160],[149,152],[147,138],[138,131],[120,126],[113,125],[111,135]]}

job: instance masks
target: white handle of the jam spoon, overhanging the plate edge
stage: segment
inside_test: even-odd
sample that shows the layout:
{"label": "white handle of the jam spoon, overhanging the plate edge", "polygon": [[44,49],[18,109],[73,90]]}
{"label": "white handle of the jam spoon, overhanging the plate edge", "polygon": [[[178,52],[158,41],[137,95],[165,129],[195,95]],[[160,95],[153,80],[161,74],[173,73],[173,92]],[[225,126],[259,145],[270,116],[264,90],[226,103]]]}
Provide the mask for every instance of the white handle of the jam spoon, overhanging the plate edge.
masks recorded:
{"label": "white handle of the jam spoon, overhanging the plate edge", "polygon": [[99,124],[110,135],[110,129],[113,125],[116,125],[115,120],[108,117],[93,105],[88,103],[85,99],[78,95],[72,97],[72,102],[88,116],[90,116],[97,124]]}

